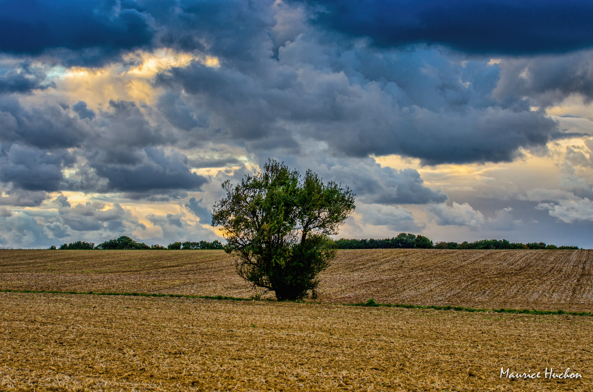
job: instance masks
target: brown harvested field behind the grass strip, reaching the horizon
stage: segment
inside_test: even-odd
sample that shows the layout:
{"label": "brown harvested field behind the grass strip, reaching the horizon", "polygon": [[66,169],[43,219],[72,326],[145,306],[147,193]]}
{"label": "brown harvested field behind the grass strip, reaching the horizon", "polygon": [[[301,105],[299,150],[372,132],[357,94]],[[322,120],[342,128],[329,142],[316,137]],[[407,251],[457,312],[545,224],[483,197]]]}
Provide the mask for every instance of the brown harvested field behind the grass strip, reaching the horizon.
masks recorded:
{"label": "brown harvested field behind the grass strip, reaching the horizon", "polygon": [[[249,297],[221,250],[0,250],[0,289]],[[320,301],[593,310],[593,250],[340,250]]]}

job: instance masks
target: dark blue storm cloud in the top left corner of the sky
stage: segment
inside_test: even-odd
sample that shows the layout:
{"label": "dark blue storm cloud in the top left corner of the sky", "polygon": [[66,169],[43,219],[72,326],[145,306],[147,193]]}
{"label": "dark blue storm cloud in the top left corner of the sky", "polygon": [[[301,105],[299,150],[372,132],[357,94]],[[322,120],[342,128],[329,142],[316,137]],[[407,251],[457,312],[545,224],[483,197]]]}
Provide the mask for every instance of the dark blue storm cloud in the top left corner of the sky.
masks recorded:
{"label": "dark blue storm cloud in the top left corner of the sky", "polygon": [[[100,65],[120,50],[150,43],[154,29],[142,11],[132,0],[0,1],[0,51],[83,50],[71,57],[73,64]],[[88,48],[97,50],[84,52]]]}

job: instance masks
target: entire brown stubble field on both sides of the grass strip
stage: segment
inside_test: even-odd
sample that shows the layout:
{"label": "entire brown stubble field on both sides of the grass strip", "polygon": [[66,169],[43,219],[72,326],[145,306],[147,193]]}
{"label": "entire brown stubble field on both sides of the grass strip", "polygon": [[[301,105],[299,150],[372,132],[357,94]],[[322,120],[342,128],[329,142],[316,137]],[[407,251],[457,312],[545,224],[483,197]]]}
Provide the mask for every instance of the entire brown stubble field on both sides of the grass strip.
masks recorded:
{"label": "entire brown stubble field on both sides of the grass strip", "polygon": [[[593,390],[589,250],[340,251],[322,303],[0,294],[0,390]],[[232,295],[219,251],[0,250],[2,290]],[[541,372],[534,380],[500,378]],[[547,380],[544,369],[579,372]]]}

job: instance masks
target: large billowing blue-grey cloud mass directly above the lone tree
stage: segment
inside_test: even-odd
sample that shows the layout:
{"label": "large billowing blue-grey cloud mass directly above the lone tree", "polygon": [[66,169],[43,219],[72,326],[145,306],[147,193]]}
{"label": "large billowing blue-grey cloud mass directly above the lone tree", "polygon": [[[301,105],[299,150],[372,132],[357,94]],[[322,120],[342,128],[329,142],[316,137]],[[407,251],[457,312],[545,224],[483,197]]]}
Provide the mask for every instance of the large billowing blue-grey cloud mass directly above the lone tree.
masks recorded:
{"label": "large billowing blue-grey cloud mass directly above the lone tree", "polygon": [[[346,44],[345,44],[346,45]],[[158,84],[187,94],[222,128],[211,137],[252,150],[299,153],[295,135],[349,156],[400,154],[425,164],[511,161],[559,131],[523,97],[496,99],[498,65],[452,62],[447,51],[336,49],[305,34],[259,72],[192,63]]]}

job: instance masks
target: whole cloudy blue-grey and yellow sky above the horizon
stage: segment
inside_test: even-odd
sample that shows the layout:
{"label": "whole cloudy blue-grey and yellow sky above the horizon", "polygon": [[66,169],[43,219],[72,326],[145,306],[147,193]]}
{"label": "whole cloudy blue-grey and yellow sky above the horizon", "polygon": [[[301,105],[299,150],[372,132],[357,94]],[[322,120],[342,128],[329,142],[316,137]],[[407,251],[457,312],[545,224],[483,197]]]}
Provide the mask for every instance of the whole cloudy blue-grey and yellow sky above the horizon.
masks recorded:
{"label": "whole cloudy blue-grey and yellow sky above the horizon", "polygon": [[221,239],[268,158],[339,237],[593,248],[593,3],[0,0],[0,246]]}

